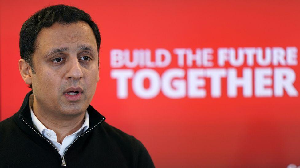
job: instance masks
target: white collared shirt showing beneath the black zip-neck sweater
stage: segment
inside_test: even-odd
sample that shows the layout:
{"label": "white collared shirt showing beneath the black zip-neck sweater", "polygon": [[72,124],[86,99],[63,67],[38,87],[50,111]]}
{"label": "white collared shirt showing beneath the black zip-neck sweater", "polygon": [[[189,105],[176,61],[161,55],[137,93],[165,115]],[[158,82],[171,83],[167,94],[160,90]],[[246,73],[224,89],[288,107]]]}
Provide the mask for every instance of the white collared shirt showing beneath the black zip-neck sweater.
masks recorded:
{"label": "white collared shirt showing beneath the black zip-neck sweater", "polygon": [[32,123],[33,123],[34,127],[36,129],[38,129],[38,131],[41,133],[41,135],[45,136],[56,147],[56,149],[57,149],[57,151],[59,151],[59,154],[61,155],[61,157],[64,155],[65,150],[70,146],[70,144],[78,136],[80,136],[83,132],[85,132],[89,128],[89,114],[88,114],[88,111],[85,110],[85,121],[84,121],[83,125],[81,126],[81,128],[78,129],[75,133],[66,136],[64,138],[64,140],[62,140],[62,143],[60,144],[59,142],[57,142],[56,133],[51,129],[47,129],[41,123],[41,121],[39,121],[38,118],[35,116],[34,112],[31,109],[30,101],[29,101],[29,109],[30,109],[31,119],[32,119]]}

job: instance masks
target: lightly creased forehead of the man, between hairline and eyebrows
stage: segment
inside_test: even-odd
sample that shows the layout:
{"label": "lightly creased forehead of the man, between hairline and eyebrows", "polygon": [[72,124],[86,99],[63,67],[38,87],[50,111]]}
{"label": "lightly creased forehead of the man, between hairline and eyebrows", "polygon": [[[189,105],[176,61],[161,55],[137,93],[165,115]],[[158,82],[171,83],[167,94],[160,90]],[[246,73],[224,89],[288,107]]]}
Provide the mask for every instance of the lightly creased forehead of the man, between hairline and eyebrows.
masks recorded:
{"label": "lightly creased forehead of the man, between hairline and eyebrows", "polygon": [[36,52],[45,54],[53,48],[69,48],[75,50],[82,45],[97,50],[97,43],[92,28],[84,21],[70,24],[54,23],[43,28],[36,39]]}

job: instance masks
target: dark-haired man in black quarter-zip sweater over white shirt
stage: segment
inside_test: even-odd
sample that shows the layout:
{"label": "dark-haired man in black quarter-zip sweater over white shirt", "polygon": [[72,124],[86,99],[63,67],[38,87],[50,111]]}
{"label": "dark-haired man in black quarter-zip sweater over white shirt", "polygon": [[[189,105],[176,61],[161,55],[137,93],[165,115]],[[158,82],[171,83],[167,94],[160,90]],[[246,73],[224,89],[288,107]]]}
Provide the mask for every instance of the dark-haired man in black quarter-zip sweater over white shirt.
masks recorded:
{"label": "dark-haired man in black quarter-zip sweater over white shirt", "polygon": [[154,167],[139,140],[89,105],[100,42],[89,14],[71,6],[49,6],[23,24],[19,70],[32,91],[0,123],[0,167]]}

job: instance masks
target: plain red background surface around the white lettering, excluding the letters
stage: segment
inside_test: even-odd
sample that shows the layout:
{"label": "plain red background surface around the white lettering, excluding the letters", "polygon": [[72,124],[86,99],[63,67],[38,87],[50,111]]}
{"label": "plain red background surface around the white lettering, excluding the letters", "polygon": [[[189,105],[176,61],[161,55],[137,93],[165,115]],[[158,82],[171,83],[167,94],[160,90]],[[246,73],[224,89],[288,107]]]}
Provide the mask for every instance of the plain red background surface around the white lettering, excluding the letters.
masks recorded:
{"label": "plain red background surface around the white lettering, excluding the letters", "polygon": [[[160,93],[145,100],[129,85],[128,99],[121,100],[109,62],[113,48],[300,49],[299,1],[1,0],[1,121],[18,111],[30,90],[18,70],[22,24],[43,7],[61,3],[89,13],[100,29],[100,82],[91,104],[106,122],[141,140],[156,167],[300,165],[299,97],[244,98],[239,89],[237,98],[228,98],[224,84],[218,99],[168,99]],[[300,67],[292,68],[299,92]]]}

